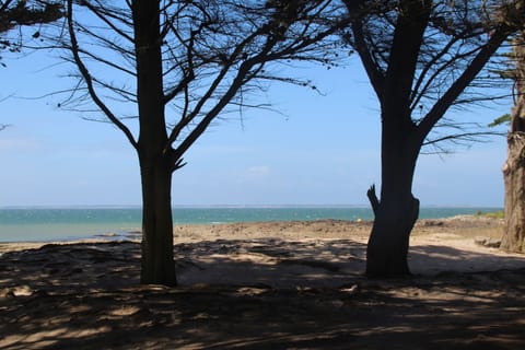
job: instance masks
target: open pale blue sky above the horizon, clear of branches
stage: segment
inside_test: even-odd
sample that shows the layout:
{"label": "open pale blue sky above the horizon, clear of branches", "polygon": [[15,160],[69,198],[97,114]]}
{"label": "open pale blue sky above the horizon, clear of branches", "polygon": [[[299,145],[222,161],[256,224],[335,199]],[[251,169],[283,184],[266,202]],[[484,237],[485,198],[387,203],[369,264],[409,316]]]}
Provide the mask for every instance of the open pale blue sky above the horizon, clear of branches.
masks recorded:
{"label": "open pale blue sky above the horizon, clear of branches", "polygon": [[[0,67],[0,207],[136,206],[137,155],[107,124],[57,107],[48,93],[72,86],[45,52],[8,57]],[[293,71],[311,89],[276,84],[267,101],[279,113],[244,110],[214,124],[173,176],[173,205],[368,206],[380,186],[380,112],[359,62]],[[31,98],[28,98],[31,97]],[[488,124],[511,104],[451,114]],[[421,206],[503,207],[504,138],[421,155],[413,195]]]}

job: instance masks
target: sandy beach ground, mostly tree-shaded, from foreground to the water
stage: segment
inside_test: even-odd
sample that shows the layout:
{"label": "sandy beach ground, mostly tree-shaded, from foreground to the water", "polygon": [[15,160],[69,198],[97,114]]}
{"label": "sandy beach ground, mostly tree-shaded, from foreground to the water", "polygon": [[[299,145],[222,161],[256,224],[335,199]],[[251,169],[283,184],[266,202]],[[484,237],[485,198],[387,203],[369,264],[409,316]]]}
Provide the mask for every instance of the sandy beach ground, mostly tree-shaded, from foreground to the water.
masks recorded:
{"label": "sandy beach ground, mostly tree-shaded, from foreground to the water", "polygon": [[0,348],[523,349],[525,255],[476,243],[502,228],[421,220],[413,277],[371,280],[370,222],[180,225],[177,288],[139,285],[133,235],[0,244]]}

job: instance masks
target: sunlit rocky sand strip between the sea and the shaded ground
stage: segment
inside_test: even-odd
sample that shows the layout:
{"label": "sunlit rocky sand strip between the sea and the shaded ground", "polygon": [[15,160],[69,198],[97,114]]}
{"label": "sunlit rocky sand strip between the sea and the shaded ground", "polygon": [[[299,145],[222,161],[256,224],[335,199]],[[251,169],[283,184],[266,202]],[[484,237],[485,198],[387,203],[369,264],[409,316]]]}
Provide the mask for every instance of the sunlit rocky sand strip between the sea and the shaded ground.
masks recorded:
{"label": "sunlit rocky sand strip between the sea and the shaded ground", "polygon": [[[504,221],[485,215],[455,215],[442,219],[419,219],[410,235],[425,236],[438,232],[452,234],[457,238],[475,240],[477,236],[501,238]],[[351,238],[365,243],[369,238],[373,221],[349,221],[338,219],[293,220],[293,221],[257,221],[234,223],[185,223],[175,224],[174,244],[196,243],[220,240],[329,240]],[[451,233],[452,232],[452,233]],[[108,232],[71,240],[42,240],[0,242],[0,254],[12,249],[38,248],[47,244],[68,245],[75,243],[140,243],[141,232]],[[412,244],[411,244],[412,245]]]}

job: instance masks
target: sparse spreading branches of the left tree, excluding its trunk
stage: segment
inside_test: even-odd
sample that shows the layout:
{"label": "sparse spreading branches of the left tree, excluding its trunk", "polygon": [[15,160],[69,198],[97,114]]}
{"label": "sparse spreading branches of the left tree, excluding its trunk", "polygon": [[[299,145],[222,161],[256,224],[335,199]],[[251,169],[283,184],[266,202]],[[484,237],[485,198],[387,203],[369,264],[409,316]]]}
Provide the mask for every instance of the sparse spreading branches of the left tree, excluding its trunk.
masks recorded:
{"label": "sparse spreading branches of the left tree, excluding its trunk", "polygon": [[[180,155],[219,113],[264,107],[260,101],[249,97],[265,91],[272,81],[315,89],[307,79],[280,75],[281,68],[293,61],[331,65],[336,60],[335,47],[341,44],[336,37],[322,40],[338,30],[341,11],[336,1],[161,3],[161,103],[170,106],[167,141],[180,150]],[[81,63],[78,66],[83,69],[77,75],[79,84],[61,107],[80,110],[86,118],[108,118],[136,145],[133,122],[138,115],[118,115],[122,103],[138,101],[139,52],[133,34],[138,19],[132,16],[132,5],[137,2],[94,0],[77,7],[70,24],[75,45],[67,40],[61,44],[75,52],[67,59]],[[94,94],[98,98],[86,98]],[[93,102],[98,108],[92,108]]]}

